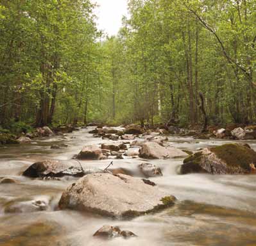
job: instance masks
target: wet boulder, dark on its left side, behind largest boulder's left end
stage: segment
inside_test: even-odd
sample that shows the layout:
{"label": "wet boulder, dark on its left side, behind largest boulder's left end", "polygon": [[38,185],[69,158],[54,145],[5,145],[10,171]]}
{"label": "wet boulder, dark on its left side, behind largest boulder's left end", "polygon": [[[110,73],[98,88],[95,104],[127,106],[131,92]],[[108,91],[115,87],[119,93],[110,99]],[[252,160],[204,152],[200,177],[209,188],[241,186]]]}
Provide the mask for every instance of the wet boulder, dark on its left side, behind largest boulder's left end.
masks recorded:
{"label": "wet boulder, dark on its left side, behind largest boulder's left end", "polygon": [[44,160],[33,163],[22,175],[26,177],[82,177],[85,173],[80,167],[67,165],[58,160]]}

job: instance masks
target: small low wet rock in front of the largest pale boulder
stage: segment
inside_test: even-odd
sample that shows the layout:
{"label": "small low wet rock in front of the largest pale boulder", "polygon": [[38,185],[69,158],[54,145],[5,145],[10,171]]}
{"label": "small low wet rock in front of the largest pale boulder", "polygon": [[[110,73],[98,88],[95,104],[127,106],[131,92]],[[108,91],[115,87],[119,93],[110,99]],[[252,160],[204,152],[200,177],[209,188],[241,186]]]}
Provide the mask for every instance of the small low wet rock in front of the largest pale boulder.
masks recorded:
{"label": "small low wet rock in front of the largest pale boulder", "polygon": [[103,225],[93,236],[99,236],[101,238],[116,238],[118,236],[123,236],[124,238],[130,238],[131,236],[136,236],[132,231],[121,231],[117,226]]}

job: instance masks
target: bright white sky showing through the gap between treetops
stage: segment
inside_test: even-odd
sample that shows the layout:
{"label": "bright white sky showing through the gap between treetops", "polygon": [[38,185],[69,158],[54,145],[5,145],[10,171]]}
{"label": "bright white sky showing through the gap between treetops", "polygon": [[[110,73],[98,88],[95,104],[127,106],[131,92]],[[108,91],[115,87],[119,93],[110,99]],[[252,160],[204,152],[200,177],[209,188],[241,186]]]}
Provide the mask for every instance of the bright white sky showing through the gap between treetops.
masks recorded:
{"label": "bright white sky showing through the gap between treetops", "polygon": [[108,35],[116,35],[122,25],[123,15],[127,15],[127,0],[94,0],[99,8],[96,10],[98,16],[98,27]]}

